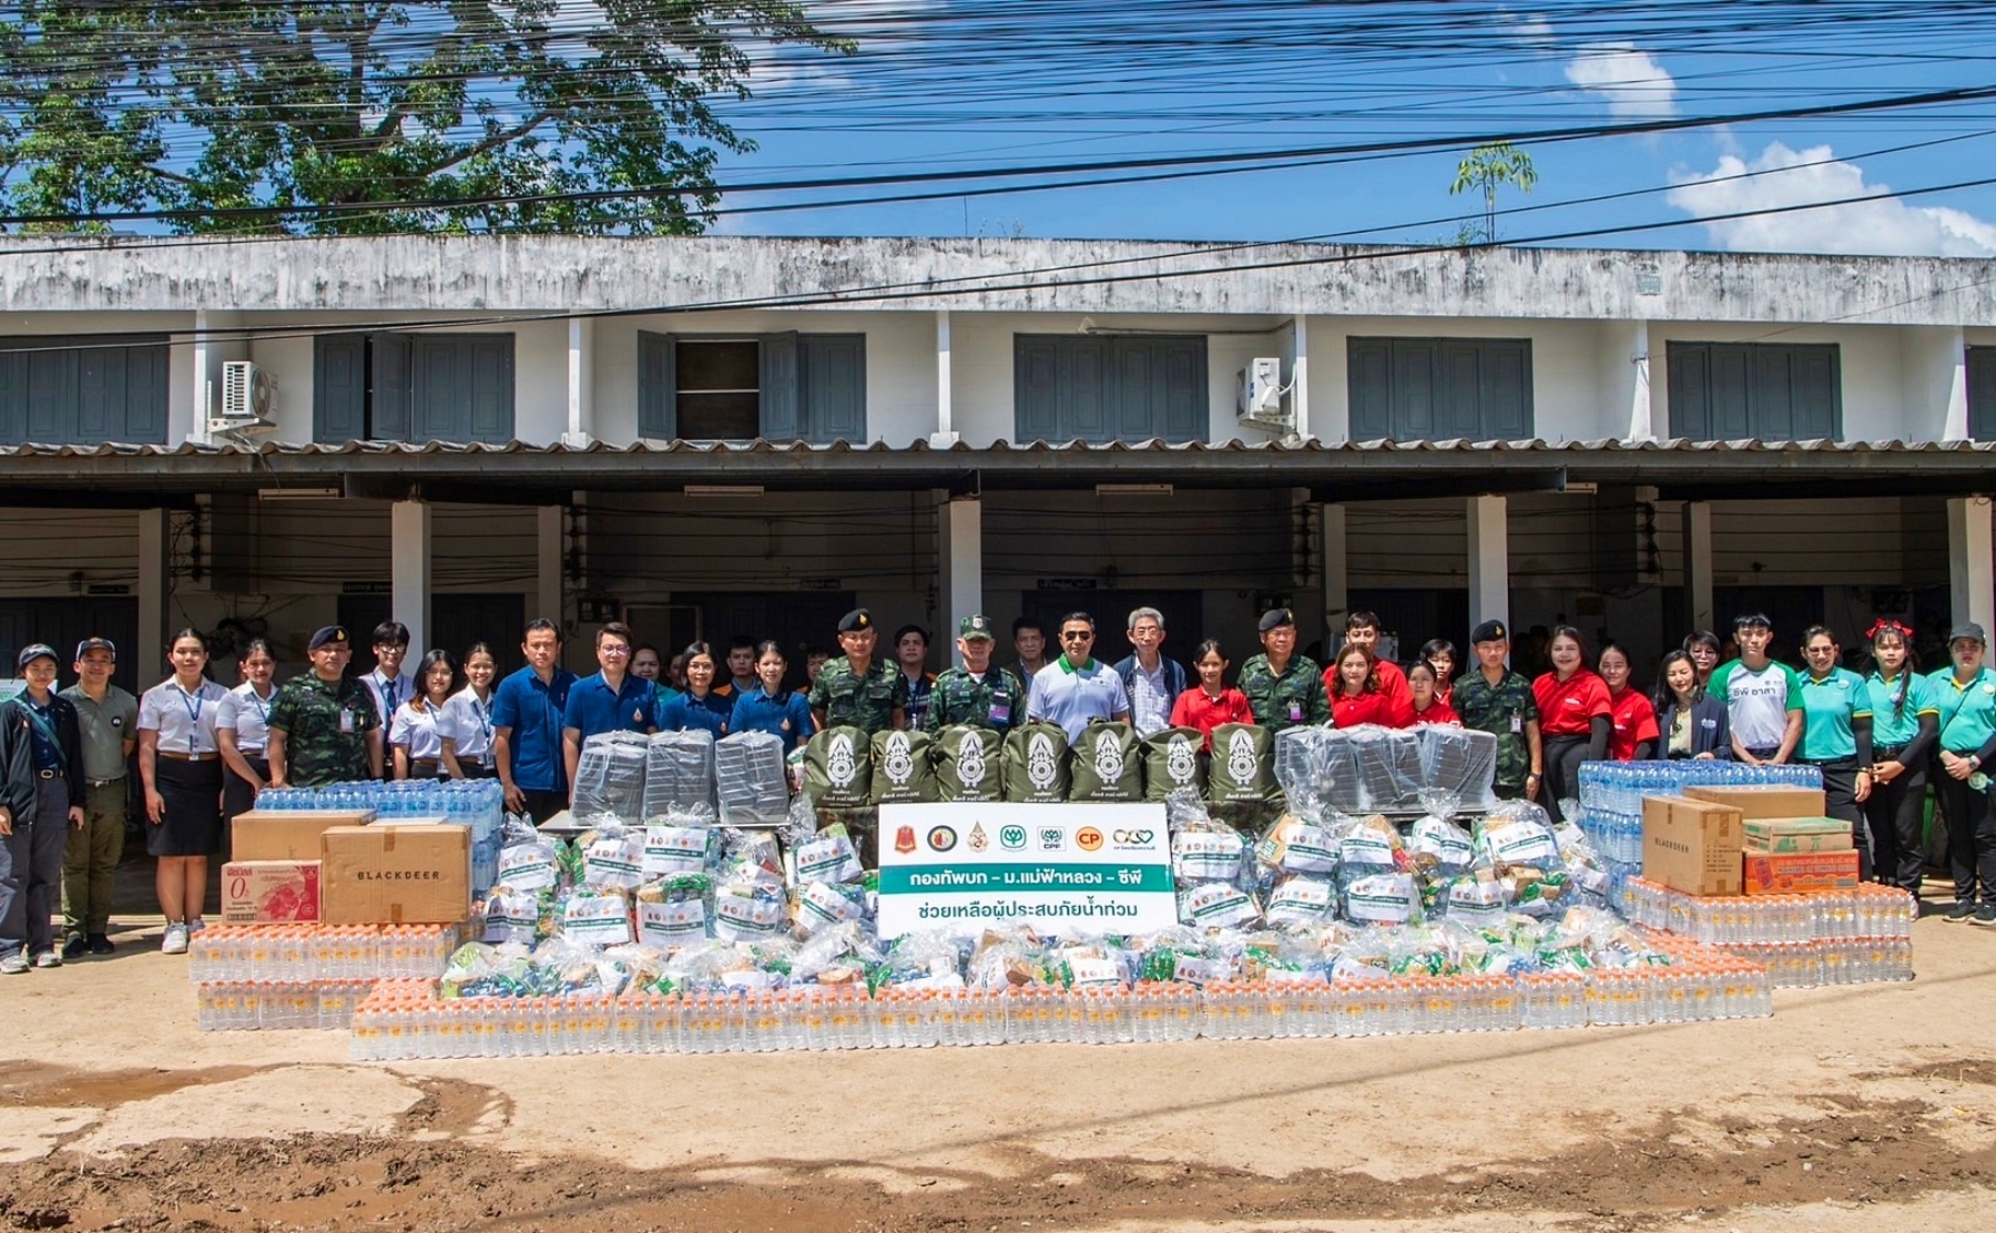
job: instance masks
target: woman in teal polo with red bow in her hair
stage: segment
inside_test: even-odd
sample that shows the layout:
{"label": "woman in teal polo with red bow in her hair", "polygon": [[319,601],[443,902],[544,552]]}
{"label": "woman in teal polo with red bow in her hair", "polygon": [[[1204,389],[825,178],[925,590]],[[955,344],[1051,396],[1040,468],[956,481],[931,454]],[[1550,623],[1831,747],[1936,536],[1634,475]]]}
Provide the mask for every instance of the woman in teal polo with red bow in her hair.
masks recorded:
{"label": "woman in teal polo with red bow in her hair", "polygon": [[1940,732],[1940,706],[1934,684],[1916,670],[1910,642],[1912,630],[1896,620],[1870,626],[1872,674],[1864,688],[1872,702],[1872,794],[1864,820],[1878,880],[1918,896],[1926,870],[1926,758]]}

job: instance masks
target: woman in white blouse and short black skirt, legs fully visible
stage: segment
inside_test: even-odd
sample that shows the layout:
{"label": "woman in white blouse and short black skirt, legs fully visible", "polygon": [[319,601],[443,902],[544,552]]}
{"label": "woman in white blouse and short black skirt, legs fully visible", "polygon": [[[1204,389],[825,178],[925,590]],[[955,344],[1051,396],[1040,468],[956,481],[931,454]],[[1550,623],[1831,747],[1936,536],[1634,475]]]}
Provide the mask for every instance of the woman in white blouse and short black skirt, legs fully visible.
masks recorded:
{"label": "woman in white blouse and short black skirt, legs fully visible", "polygon": [[208,858],[222,848],[222,752],[216,716],[228,690],[208,680],[208,642],[192,628],[168,640],[174,674],[138,700],[138,774],[146,784],[146,852],[166,916],[166,954],[188,954],[202,928]]}

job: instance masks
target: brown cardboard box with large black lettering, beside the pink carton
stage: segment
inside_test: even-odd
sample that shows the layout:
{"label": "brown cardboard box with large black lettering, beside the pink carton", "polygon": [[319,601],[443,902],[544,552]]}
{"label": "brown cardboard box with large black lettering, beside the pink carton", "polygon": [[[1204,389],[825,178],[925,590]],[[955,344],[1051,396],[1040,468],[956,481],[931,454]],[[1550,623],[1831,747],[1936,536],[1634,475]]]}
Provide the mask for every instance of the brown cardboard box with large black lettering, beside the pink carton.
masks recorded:
{"label": "brown cardboard box with large black lettering, beside the pink carton", "polygon": [[459,924],[471,916],[467,826],[333,826],[319,848],[329,924]]}

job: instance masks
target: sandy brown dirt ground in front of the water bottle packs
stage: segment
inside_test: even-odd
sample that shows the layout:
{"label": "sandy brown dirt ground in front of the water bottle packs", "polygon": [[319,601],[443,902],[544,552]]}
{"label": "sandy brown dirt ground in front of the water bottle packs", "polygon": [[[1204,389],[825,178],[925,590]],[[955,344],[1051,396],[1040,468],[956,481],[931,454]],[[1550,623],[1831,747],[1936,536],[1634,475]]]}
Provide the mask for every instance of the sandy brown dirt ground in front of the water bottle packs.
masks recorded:
{"label": "sandy brown dirt ground in front of the water bottle packs", "polygon": [[0,1229],[1986,1229],[1996,930],[1739,1024],[353,1065],[158,922],[0,984]]}

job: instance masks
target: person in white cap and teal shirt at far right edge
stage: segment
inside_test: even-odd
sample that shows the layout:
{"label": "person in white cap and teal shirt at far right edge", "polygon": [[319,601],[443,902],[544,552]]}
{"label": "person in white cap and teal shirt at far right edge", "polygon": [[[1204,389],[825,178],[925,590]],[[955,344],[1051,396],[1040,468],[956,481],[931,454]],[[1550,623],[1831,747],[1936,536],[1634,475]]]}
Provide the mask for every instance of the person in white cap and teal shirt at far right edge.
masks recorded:
{"label": "person in white cap and teal shirt at far right edge", "polygon": [[[1948,822],[1948,868],[1954,906],[1946,920],[1996,926],[1996,816],[1990,816],[1990,776],[1996,760],[1996,672],[1982,664],[1988,634],[1976,622],[1948,634],[1952,666],[1928,680],[1940,718],[1940,770],[1934,788]],[[1982,902],[1976,904],[1980,882]]]}

